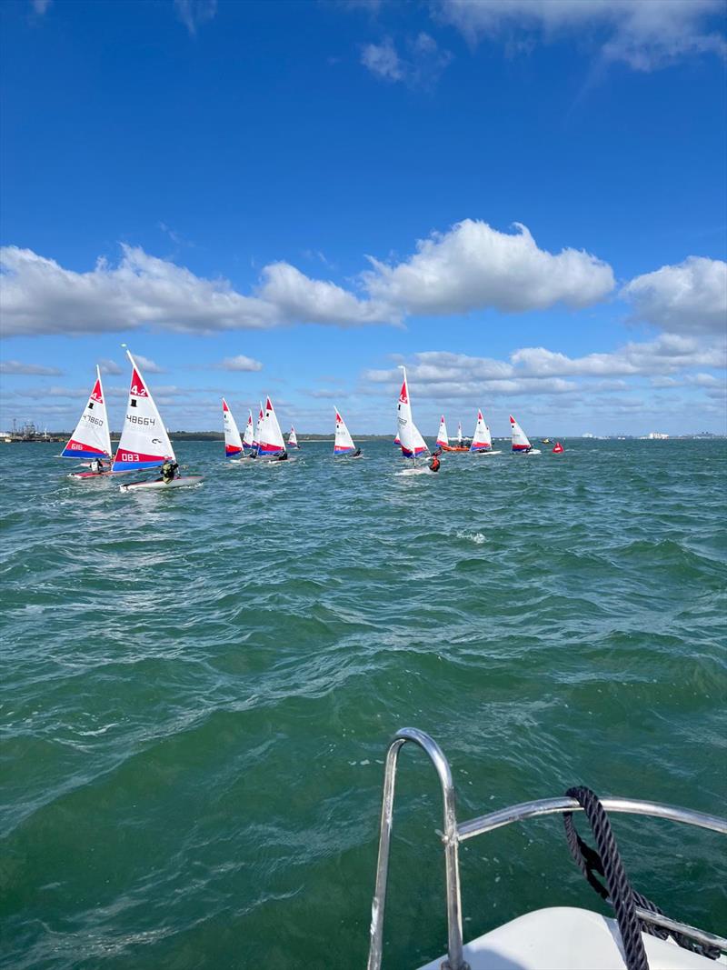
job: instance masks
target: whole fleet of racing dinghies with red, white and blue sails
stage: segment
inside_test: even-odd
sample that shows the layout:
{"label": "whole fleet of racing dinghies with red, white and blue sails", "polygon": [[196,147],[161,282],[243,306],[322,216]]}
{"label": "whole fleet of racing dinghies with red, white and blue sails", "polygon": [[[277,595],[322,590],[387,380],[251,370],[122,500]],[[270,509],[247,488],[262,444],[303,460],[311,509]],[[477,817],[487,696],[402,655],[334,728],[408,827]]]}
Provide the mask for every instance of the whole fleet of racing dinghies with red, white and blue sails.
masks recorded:
{"label": "whole fleet of racing dinghies with red, white and blue sails", "polygon": [[[162,475],[160,478],[130,482],[121,485],[120,488],[122,491],[132,491],[135,489],[167,488],[170,485],[179,488],[198,484],[202,481],[200,475],[181,475],[178,473],[174,447],[154,403],[151,391],[143,379],[138,363],[129,350],[126,351],[126,355],[131,365],[131,384],[126,416],[116,453],[111,458],[109,417],[101,372],[97,367],[96,380],[88,401],[81,412],[79,423],[59,456],[76,459],[89,470],[74,471],[70,477],[79,479],[98,478],[161,468]],[[429,455],[429,449],[427,442],[414,423],[406,369],[401,367],[400,370],[403,372],[403,379],[396,404],[397,432],[394,444],[400,449],[402,457],[411,462],[410,468],[404,473],[438,469],[436,456],[442,451],[468,452],[476,455],[502,454],[501,451],[492,449],[490,428],[485,421],[482,410],[477,412],[474,435],[469,443],[465,443],[464,438],[462,438],[461,423],[458,423],[458,433],[454,439],[456,443],[450,444],[447,422],[444,414],[442,414],[436,436],[436,451],[428,463],[422,464],[419,460]],[[334,408],[334,412],[333,457],[360,457],[361,448],[357,447],[354,442],[337,407]],[[230,462],[239,463],[250,459],[257,459],[263,463],[287,461],[289,450],[300,450],[296,429],[293,427],[291,427],[286,444],[275,414],[275,408],[269,398],[266,399],[265,407],[262,403],[260,404],[257,422],[253,419],[252,410],[248,411],[247,423],[242,436],[240,436],[235,416],[225,398],[222,398],[222,421],[225,437],[225,457]],[[510,415],[510,429],[513,454],[539,455],[541,453],[540,449],[534,448],[530,443],[529,438],[522,431],[520,424],[512,414]],[[563,450],[562,444],[558,441],[553,448],[553,454],[562,454]]]}

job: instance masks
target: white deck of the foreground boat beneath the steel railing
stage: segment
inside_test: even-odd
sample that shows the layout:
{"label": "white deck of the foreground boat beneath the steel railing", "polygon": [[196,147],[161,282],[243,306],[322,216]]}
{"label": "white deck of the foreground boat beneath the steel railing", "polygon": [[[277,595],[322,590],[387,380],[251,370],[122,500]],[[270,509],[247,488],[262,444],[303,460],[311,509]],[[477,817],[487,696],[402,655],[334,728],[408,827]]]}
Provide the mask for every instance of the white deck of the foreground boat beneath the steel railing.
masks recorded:
{"label": "white deck of the foreground boat beneath the steel railing", "polygon": [[[714,961],[644,934],[649,970],[717,970]],[[498,926],[463,948],[470,970],[625,970],[616,920],[562,906]],[[421,970],[440,970],[440,956]]]}

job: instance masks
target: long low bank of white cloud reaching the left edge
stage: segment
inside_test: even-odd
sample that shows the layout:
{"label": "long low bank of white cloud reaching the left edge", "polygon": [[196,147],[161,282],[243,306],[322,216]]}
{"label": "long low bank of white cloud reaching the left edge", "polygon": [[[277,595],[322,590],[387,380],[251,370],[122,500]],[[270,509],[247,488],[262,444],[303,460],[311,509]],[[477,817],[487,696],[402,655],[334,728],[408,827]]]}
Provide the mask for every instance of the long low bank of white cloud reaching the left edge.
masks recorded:
{"label": "long low bank of white cloud reaching the left edge", "polygon": [[290,323],[357,326],[396,322],[398,314],[287,263],[263,270],[259,290],[237,293],[227,279],[205,279],[139,246],[122,244],[117,265],[98,260],[77,273],[31,249],[0,250],[0,311],[6,337],[111,333],[151,327],[205,334],[268,330]]}

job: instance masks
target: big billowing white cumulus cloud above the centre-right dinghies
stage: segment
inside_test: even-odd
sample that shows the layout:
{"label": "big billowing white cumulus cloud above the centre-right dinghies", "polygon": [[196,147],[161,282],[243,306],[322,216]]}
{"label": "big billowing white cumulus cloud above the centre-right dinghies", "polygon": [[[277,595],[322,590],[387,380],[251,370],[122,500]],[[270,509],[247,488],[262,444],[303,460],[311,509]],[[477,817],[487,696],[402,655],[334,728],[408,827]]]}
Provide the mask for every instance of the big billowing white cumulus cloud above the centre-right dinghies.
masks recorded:
{"label": "big billowing white cumulus cloud above the centre-right dinghies", "polygon": [[540,249],[525,226],[501,233],[487,222],[464,219],[444,234],[417,244],[396,266],[371,259],[364,274],[375,300],[410,313],[464,313],[481,307],[506,312],[564,303],[587,307],[614,289],[611,267],[579,249]]}

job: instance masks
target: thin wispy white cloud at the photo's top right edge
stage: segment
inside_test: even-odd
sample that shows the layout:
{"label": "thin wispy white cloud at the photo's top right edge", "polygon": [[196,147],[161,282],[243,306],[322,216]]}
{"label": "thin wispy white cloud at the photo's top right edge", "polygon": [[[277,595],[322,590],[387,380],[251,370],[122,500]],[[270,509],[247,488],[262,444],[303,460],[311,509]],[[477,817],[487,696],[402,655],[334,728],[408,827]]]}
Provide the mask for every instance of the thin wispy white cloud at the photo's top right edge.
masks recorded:
{"label": "thin wispy white cloud at the photo's top right edge", "polygon": [[514,33],[545,41],[578,35],[600,44],[606,60],[637,71],[727,50],[710,22],[723,15],[723,0],[439,0],[435,9],[470,43]]}

